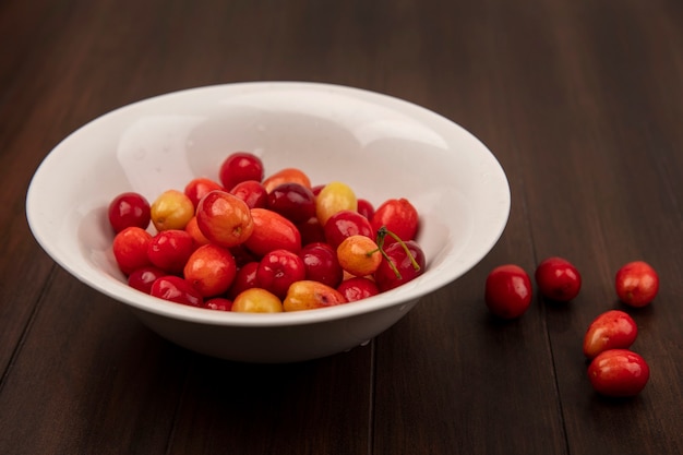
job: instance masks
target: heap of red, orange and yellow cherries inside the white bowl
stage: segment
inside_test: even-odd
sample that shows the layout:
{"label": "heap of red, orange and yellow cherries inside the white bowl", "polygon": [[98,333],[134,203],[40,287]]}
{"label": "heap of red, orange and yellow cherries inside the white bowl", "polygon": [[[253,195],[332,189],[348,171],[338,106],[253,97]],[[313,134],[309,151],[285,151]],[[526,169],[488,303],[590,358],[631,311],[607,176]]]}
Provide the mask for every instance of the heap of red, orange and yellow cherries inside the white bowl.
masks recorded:
{"label": "heap of red, orange and yellow cherries inside the white bowl", "polygon": [[131,287],[199,308],[331,307],[393,289],[426,268],[408,200],[375,209],[344,182],[312,185],[299,168],[265,177],[248,152],[227,156],[216,179],[197,177],[152,204],[121,193],[108,219]]}

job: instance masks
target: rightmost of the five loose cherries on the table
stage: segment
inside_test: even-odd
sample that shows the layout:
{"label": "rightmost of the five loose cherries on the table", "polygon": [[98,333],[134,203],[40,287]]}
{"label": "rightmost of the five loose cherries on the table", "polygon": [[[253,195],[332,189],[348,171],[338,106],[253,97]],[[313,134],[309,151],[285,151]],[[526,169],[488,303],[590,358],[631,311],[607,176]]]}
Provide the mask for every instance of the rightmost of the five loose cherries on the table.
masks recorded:
{"label": "rightmost of the five loose cherries on the table", "polygon": [[630,262],[616,272],[614,287],[619,299],[625,304],[645,307],[659,292],[659,275],[644,261]]}

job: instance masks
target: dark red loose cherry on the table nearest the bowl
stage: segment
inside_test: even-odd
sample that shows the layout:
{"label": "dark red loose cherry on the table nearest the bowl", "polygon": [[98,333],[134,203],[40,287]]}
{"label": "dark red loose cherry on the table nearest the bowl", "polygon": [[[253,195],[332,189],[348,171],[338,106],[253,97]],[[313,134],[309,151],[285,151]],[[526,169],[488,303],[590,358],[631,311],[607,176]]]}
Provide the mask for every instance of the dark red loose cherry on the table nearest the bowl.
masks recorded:
{"label": "dark red loose cherry on the table nearest the bowl", "polygon": [[484,301],[491,313],[499,318],[523,315],[531,304],[531,279],[518,265],[500,265],[487,276]]}

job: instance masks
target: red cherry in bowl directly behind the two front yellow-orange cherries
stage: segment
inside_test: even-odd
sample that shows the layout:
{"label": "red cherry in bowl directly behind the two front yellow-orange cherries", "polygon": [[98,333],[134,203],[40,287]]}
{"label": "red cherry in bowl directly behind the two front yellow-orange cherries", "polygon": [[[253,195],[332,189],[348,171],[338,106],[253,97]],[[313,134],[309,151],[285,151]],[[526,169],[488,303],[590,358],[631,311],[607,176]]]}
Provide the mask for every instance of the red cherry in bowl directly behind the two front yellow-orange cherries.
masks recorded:
{"label": "red cherry in bowl directly behind the two front yellow-orange cherries", "polygon": [[266,253],[256,270],[256,280],[263,289],[284,299],[292,283],[305,278],[303,260],[288,250]]}

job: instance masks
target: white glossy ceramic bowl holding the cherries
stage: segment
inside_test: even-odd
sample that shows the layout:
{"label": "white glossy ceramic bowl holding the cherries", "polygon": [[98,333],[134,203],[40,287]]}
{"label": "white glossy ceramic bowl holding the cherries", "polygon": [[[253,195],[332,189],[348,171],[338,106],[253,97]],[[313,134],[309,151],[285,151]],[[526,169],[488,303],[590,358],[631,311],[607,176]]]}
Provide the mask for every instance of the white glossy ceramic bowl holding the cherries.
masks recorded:
{"label": "white glossy ceramic bowl holding the cherries", "polygon": [[[259,155],[266,175],[299,167],[313,184],[344,181],[375,205],[407,197],[420,213],[426,273],[359,302],[277,314],[191,308],[130,288],[111,253],[109,201],[124,191],[153,201],[193,177],[217,179],[235,151]],[[301,361],[366,344],[475,266],[508,213],[503,169],[456,123],[386,95],[298,82],[193,88],[109,112],[49,153],[26,200],[33,235],[74,277],[178,345],[249,362]]]}

